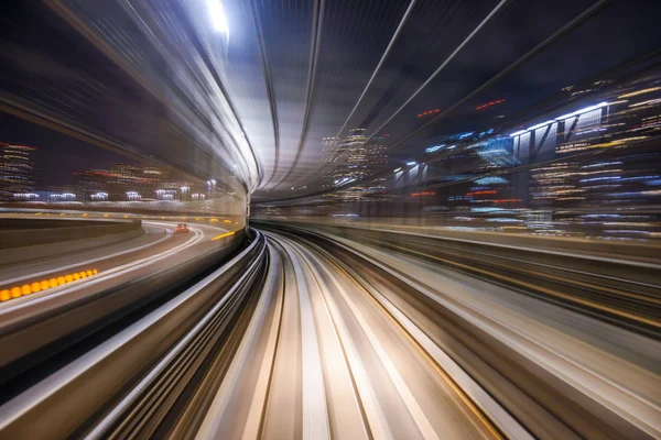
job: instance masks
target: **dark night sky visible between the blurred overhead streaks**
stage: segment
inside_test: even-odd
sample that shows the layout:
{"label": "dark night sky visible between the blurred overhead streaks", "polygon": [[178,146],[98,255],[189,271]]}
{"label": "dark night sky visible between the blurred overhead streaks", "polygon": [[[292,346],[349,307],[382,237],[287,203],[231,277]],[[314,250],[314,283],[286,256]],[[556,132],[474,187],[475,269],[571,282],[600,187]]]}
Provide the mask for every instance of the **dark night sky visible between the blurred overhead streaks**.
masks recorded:
{"label": "dark night sky visible between the blurred overhead streaks", "polygon": [[[234,89],[251,90],[262,84],[261,77],[250,82],[243,75],[259,72],[259,64],[249,28],[241,23],[247,20],[242,1],[224,1],[232,28],[228,86],[230,95],[239,98],[241,94],[232,94]],[[387,59],[383,75],[375,81],[349,127],[365,127],[368,131],[378,127],[496,3],[494,0],[420,1],[393,47],[392,56]],[[510,1],[443,74],[389,124],[386,131],[391,133],[390,139],[397,140],[414,129],[420,123],[415,120],[416,113],[451,106],[593,3],[592,0]],[[94,3],[99,8],[104,4]],[[260,11],[273,64],[281,121],[300,119],[305,79],[305,75],[300,74],[307,69],[310,32],[308,26],[301,23],[307,20],[312,3],[301,4],[304,7],[296,9],[285,7],[281,1],[267,1]],[[321,72],[315,85],[311,135],[305,144],[310,158],[300,165],[307,172],[314,170],[311,164],[318,161],[319,139],[335,135],[333,131],[348,116],[408,1],[337,0],[326,4]],[[423,144],[433,135],[488,125],[498,114],[520,111],[557,94],[564,86],[659,48],[661,26],[657,7],[654,0],[611,1],[593,20],[457,109],[418,142]],[[91,127],[97,132],[159,154],[161,141],[154,133],[162,131],[161,121],[169,119],[167,109],[160,107],[42,2],[6,0],[2,8],[0,62],[6,72],[0,77],[0,91],[3,96],[62,106],[64,114],[83,127]],[[132,31],[129,24],[126,24],[126,32],[134,38],[139,51],[144,50],[142,55],[148,56],[149,47],[141,43],[139,32]],[[152,67],[165,76],[170,68],[167,64]],[[479,114],[473,111],[479,103],[500,98],[507,98],[507,102],[498,108]],[[256,106],[254,99],[250,105]],[[266,101],[259,101],[259,105],[268,106]],[[294,109],[291,114],[288,114],[289,109]],[[282,133],[286,134],[288,127],[284,122],[282,125]],[[282,140],[285,153],[293,151],[297,140],[300,128],[296,123],[292,127],[291,139]],[[72,172],[128,162],[113,152],[7,114],[0,114],[0,141],[39,147],[39,177],[47,185],[72,183]],[[409,150],[410,145],[394,152],[393,156],[403,157]],[[413,150],[421,151],[422,145]],[[268,155],[269,151],[263,154]],[[293,153],[283,157],[293,157]]]}

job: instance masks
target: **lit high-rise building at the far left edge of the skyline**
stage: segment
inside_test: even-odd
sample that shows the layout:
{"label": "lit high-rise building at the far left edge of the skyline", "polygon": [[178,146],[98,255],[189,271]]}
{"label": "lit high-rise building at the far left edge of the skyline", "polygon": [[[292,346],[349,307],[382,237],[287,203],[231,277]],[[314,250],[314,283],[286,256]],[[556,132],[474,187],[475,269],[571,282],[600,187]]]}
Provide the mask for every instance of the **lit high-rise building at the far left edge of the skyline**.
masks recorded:
{"label": "lit high-rise building at the far left edge of the skyline", "polygon": [[24,199],[34,191],[33,146],[0,142],[0,200]]}

